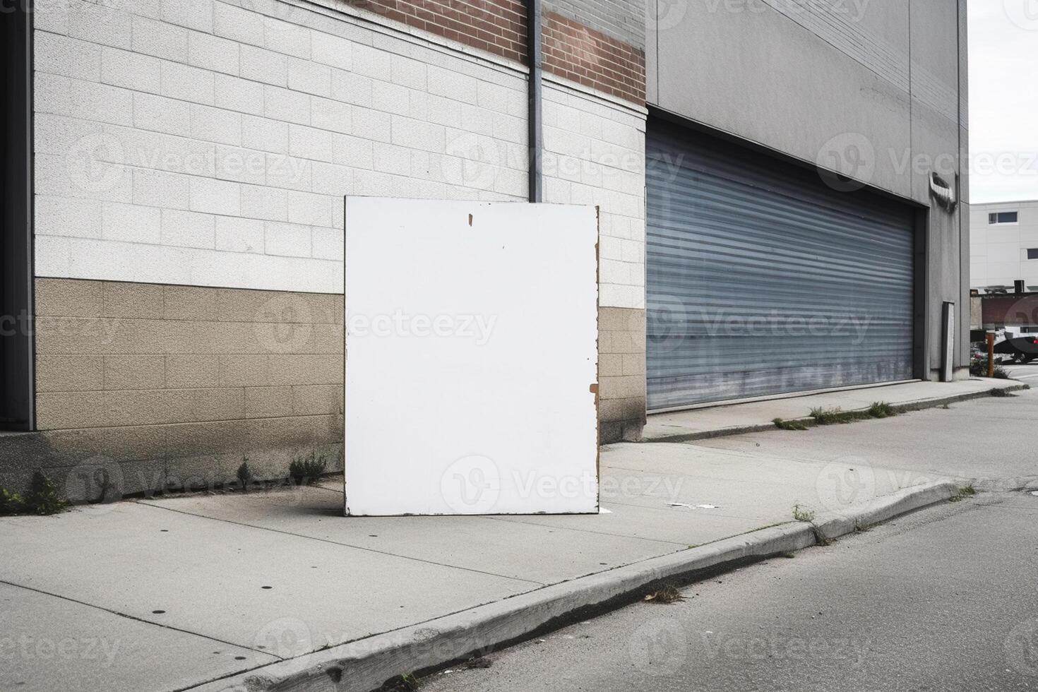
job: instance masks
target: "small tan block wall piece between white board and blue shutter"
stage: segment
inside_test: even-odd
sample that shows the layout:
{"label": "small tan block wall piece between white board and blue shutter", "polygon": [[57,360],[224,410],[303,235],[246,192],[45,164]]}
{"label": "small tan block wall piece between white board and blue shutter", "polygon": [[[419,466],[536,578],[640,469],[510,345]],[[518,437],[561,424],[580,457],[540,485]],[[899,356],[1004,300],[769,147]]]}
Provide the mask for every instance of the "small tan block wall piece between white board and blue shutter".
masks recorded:
{"label": "small tan block wall piece between white board and blue shutter", "polygon": [[646,424],[646,312],[598,309],[599,440],[641,439]]}

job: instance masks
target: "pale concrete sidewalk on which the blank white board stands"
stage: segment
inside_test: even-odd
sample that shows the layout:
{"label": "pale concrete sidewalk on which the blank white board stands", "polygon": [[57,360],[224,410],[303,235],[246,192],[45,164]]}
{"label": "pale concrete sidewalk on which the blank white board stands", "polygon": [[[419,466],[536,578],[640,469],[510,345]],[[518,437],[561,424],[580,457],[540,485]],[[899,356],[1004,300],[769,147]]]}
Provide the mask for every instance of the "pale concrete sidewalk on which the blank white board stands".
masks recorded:
{"label": "pale concrete sidewalk on which the blank white board stands", "polygon": [[[969,449],[979,414],[1038,415],[1038,396],[1023,394],[935,413],[961,436],[948,443]],[[914,424],[839,427],[877,437]],[[754,436],[763,447],[739,449],[604,447],[598,516],[346,519],[338,478],[0,519],[0,689],[268,689],[264,676],[303,689],[285,682],[295,674],[310,675],[305,689],[366,690],[419,667],[401,642],[445,661],[528,632],[506,627],[516,613],[549,621],[685,574],[696,555],[706,565],[811,545],[794,503],[845,532],[847,517],[880,521],[972,481],[967,461],[935,473],[925,452],[890,467],[847,455],[855,449],[781,452],[784,440],[825,434],[772,430]],[[453,639],[438,648],[443,633]],[[346,677],[333,665],[343,657],[356,663]]]}

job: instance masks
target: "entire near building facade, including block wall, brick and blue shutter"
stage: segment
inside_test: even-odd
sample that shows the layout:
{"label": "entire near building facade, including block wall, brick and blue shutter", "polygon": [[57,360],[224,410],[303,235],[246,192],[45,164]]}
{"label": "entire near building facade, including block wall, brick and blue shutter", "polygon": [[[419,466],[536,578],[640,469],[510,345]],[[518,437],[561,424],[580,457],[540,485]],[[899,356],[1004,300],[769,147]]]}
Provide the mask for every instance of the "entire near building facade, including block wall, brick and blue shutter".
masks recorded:
{"label": "entire near building facade, including block wall, brick and blue shutter", "polygon": [[647,411],[937,377],[968,290],[964,0],[529,4],[536,25],[513,0],[5,16],[10,482],[334,468],[343,197],[526,200],[531,161],[543,201],[600,209],[603,441]]}

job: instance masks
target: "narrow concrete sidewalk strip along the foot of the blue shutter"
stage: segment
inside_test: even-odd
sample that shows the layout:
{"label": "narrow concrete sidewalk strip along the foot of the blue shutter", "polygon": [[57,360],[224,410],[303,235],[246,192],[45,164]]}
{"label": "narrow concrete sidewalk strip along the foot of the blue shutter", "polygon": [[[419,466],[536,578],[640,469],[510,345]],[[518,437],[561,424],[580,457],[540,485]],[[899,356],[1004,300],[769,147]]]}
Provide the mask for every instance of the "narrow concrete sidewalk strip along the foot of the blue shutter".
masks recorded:
{"label": "narrow concrete sidewalk strip along the foot of the blue shutter", "polygon": [[991,389],[1021,387],[1015,380],[971,378],[957,382],[905,382],[842,391],[800,394],[727,406],[709,406],[649,416],[647,442],[690,442],[773,426],[775,418],[807,420],[812,409],[864,411],[875,402],[919,410],[986,396]]}

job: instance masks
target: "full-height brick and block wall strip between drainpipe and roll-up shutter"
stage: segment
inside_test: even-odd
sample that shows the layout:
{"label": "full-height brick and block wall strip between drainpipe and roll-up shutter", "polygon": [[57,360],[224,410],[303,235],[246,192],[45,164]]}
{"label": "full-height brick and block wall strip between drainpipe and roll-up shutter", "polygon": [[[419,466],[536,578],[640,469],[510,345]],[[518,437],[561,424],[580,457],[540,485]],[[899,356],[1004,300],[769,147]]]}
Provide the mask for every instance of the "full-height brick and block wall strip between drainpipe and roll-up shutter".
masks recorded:
{"label": "full-height brick and block wall strip between drainpipe and roll-up shutter", "polygon": [[[606,442],[638,440],[646,421],[646,8],[632,0],[546,0],[543,9],[545,71],[635,106],[549,90],[544,142],[549,161],[570,164],[557,166],[563,172],[548,179],[548,201],[605,200],[599,431]],[[582,164],[579,178],[565,172],[573,163]]]}

